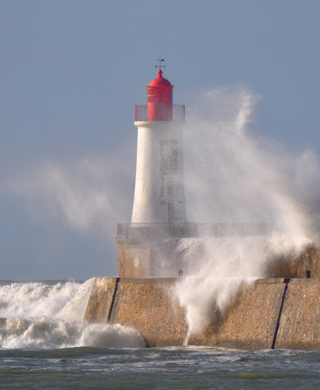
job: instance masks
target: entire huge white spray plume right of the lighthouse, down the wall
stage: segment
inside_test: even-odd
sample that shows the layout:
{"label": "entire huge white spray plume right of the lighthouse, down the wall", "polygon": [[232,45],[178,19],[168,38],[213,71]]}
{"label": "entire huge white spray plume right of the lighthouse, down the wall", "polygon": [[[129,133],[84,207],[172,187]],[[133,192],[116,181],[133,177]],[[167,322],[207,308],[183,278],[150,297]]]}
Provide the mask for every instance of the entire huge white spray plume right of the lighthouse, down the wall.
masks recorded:
{"label": "entire huge white spray plume right of the lighthouse, down the wall", "polygon": [[184,277],[176,292],[189,334],[203,331],[216,311],[223,315],[240,286],[265,276],[278,255],[320,242],[319,161],[311,151],[292,154],[254,134],[258,101],[243,87],[205,91],[187,120],[189,221],[275,226],[255,237],[181,239]]}

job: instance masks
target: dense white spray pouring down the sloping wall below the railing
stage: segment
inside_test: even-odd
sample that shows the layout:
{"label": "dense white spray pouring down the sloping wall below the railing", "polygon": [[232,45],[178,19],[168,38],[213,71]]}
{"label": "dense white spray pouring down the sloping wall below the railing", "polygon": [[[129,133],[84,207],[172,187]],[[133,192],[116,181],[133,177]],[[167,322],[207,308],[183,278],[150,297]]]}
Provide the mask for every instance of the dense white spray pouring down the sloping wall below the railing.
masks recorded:
{"label": "dense white spray pouring down the sloping wall below the railing", "polygon": [[[189,334],[200,333],[210,323],[215,311],[223,315],[244,283],[260,275],[260,263],[265,260],[261,237],[207,237],[192,240],[182,239],[179,249],[188,251],[187,263],[193,274],[181,278],[176,286],[180,306],[186,308]],[[184,242],[186,241],[186,242]],[[199,252],[199,247],[201,247]],[[194,253],[192,254],[192,248]]]}

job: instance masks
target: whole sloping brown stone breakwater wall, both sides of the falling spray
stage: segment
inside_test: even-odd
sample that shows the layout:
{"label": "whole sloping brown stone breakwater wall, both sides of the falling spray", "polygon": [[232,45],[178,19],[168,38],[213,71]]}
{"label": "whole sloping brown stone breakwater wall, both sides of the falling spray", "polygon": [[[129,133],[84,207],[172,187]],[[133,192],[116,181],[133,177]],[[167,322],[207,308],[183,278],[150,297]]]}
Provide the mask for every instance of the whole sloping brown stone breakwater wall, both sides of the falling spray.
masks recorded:
{"label": "whole sloping brown stone breakwater wall, both sides of the falling spray", "polygon": [[[175,298],[175,278],[96,278],[84,320],[133,327],[148,347],[181,346],[185,312]],[[258,279],[243,285],[228,310],[189,345],[246,350],[320,350],[320,278]]]}

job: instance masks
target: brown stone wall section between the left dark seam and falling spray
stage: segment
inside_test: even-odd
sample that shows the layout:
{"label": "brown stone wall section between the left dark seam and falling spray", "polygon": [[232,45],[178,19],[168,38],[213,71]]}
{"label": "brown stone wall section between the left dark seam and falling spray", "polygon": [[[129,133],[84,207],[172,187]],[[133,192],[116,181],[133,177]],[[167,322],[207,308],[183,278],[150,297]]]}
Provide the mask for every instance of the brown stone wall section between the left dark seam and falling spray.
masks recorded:
{"label": "brown stone wall section between the left dark seam and falling spray", "polygon": [[121,278],[110,322],[135,328],[150,347],[182,345],[187,326],[184,311],[173,299],[175,282]]}

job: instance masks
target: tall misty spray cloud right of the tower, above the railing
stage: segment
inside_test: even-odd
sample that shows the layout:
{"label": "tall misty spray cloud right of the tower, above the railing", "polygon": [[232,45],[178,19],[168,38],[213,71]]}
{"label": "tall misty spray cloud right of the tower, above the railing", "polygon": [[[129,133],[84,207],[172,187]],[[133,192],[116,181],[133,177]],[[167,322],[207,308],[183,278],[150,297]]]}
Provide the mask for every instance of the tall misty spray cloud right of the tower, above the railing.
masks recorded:
{"label": "tall misty spray cloud right of the tower, above the railing", "polygon": [[317,238],[317,157],[254,133],[258,98],[245,88],[206,91],[199,100],[184,131],[189,221],[272,222],[285,233]]}

